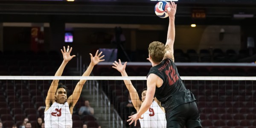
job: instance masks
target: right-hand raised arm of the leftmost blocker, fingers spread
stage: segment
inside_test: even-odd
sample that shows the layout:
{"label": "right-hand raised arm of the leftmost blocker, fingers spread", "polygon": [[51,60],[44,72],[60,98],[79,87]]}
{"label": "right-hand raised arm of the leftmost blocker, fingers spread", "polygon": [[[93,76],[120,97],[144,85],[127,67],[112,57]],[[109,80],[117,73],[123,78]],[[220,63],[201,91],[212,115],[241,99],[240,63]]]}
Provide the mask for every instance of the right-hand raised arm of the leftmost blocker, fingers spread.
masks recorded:
{"label": "right-hand raised arm of the leftmost blocker, fingers spread", "polygon": [[[84,72],[84,74],[82,76],[90,76],[90,73],[92,72],[93,67],[96,64],[98,64],[99,62],[105,61],[104,59],[102,59],[104,57],[104,55],[101,56],[102,52],[100,52],[99,54],[98,54],[98,52],[99,52],[99,50],[97,50],[95,56],[93,56],[90,53],[90,58],[91,58],[90,65],[89,65],[89,67],[87,68],[87,70]],[[85,82],[86,82],[86,80],[80,80],[76,84],[76,87],[75,87],[75,89],[73,91],[73,94],[67,99],[68,104],[72,106],[70,108],[70,112],[71,111],[73,112],[73,107],[76,105],[76,102],[78,101],[78,99],[80,97],[80,94],[81,94],[81,91],[82,91],[82,88],[83,88]]]}

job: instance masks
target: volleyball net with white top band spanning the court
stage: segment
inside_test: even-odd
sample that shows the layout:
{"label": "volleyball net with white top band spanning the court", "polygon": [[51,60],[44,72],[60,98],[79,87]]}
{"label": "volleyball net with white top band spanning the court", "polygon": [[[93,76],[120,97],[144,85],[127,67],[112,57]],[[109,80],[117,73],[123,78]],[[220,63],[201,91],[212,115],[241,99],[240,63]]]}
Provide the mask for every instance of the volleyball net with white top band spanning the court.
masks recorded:
{"label": "volleyball net with white top band spanning the court", "polygon": [[[131,80],[141,100],[146,87],[143,76],[0,76],[0,118],[3,126],[21,125],[28,117],[33,128],[37,119],[44,120],[45,99],[52,80],[67,86],[67,97],[81,79],[86,83],[73,108],[73,128],[128,127],[128,116],[136,113],[124,80]],[[181,77],[197,99],[204,128],[256,126],[256,77]],[[85,101],[94,113],[79,113]]]}

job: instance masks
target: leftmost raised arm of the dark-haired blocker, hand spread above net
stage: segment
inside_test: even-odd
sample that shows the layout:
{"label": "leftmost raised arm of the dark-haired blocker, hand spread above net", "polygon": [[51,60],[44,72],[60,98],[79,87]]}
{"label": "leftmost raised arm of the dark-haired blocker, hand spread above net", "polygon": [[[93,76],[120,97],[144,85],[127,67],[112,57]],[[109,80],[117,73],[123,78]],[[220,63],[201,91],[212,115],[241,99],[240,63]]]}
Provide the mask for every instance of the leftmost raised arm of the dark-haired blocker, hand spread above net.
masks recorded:
{"label": "leftmost raised arm of the dark-haired blocker, hand spread above net", "polygon": [[[68,61],[70,61],[73,57],[76,56],[76,55],[70,56],[71,51],[72,51],[72,47],[70,48],[69,46],[67,46],[67,51],[65,47],[63,47],[63,50],[61,49],[61,53],[63,55],[63,61],[54,76],[61,76]],[[47,97],[45,99],[45,104],[46,104],[45,111],[47,111],[50,107],[50,104],[55,101],[55,92],[58,87],[58,81],[59,81],[58,79],[53,80],[48,90]]]}

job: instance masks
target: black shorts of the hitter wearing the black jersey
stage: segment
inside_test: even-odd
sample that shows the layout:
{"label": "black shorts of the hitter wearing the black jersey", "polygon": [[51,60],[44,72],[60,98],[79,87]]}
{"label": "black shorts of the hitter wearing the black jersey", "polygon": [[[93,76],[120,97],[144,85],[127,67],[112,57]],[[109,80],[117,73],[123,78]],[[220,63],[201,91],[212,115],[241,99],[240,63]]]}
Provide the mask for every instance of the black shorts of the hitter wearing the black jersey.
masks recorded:
{"label": "black shorts of the hitter wearing the black jersey", "polygon": [[189,102],[166,113],[166,128],[202,128],[199,117],[196,103]]}

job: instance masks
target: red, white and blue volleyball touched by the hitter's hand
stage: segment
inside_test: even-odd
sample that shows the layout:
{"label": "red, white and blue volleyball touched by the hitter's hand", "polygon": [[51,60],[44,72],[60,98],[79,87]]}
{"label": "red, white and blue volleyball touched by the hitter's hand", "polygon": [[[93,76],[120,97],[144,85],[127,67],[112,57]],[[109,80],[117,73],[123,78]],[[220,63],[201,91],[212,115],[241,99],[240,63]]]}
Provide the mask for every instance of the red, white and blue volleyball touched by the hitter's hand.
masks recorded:
{"label": "red, white and blue volleyball touched by the hitter's hand", "polygon": [[170,8],[168,2],[166,1],[160,1],[155,6],[155,13],[160,18],[166,18],[168,17],[168,14],[166,12],[166,9]]}

